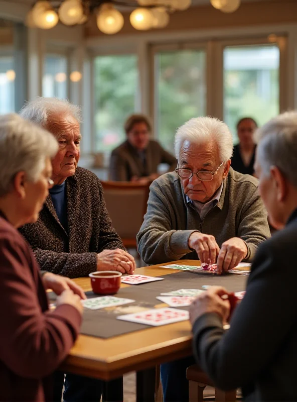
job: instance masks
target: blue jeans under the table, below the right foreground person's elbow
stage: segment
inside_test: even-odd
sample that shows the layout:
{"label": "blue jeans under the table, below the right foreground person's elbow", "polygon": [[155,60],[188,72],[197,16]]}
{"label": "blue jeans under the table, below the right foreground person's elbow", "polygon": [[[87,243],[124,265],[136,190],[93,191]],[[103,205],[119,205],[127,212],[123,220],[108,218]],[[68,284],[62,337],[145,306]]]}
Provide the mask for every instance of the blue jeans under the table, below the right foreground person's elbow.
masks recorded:
{"label": "blue jeans under the table, below the right foreground person's elbow", "polygon": [[195,363],[193,356],[161,364],[164,402],[189,402],[189,381],[186,370]]}

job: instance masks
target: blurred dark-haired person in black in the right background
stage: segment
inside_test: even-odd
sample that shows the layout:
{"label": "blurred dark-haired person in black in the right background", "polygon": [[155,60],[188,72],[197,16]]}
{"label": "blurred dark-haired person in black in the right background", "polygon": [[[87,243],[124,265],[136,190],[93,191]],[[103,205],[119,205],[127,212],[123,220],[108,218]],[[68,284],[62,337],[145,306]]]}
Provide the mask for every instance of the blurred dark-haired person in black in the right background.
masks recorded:
{"label": "blurred dark-haired person in black in the right background", "polygon": [[254,174],[256,144],[253,134],[258,127],[251,117],[244,117],[236,125],[239,144],[233,148],[231,167],[239,173]]}

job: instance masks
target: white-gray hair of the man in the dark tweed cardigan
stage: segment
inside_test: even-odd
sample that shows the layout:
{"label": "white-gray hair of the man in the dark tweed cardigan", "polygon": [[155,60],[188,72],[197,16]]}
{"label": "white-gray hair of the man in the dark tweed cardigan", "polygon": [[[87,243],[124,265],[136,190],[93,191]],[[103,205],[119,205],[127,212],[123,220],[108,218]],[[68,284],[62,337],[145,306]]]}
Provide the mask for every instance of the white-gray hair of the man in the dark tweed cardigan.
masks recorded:
{"label": "white-gray hair of the man in the dark tweed cardigan", "polygon": [[81,123],[81,110],[66,99],[37,97],[29,100],[20,111],[20,116],[41,127],[46,127],[51,115],[70,115]]}

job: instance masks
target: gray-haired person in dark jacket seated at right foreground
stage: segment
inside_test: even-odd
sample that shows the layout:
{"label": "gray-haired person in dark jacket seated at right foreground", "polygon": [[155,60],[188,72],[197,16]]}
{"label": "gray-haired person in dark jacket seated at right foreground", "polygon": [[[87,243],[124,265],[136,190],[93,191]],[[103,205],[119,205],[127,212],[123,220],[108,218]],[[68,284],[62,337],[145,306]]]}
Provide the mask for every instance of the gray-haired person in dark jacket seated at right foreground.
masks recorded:
{"label": "gray-haired person in dark jacket seated at right foreground", "polygon": [[230,304],[221,298],[226,289],[214,288],[194,301],[194,354],[217,387],[242,387],[246,401],[295,401],[297,112],[272,119],[256,137],[259,192],[279,231],[258,248],[227,332]]}

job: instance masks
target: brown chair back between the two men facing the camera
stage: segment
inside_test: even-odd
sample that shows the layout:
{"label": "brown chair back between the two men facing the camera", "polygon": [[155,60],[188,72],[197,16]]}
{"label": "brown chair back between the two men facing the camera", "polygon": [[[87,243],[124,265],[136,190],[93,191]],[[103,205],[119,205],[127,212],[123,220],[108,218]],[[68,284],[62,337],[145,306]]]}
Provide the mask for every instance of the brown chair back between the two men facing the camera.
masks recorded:
{"label": "brown chair back between the two men facing the camera", "polygon": [[136,235],[146,213],[150,184],[101,181],[108,214],[126,248],[136,248]]}

